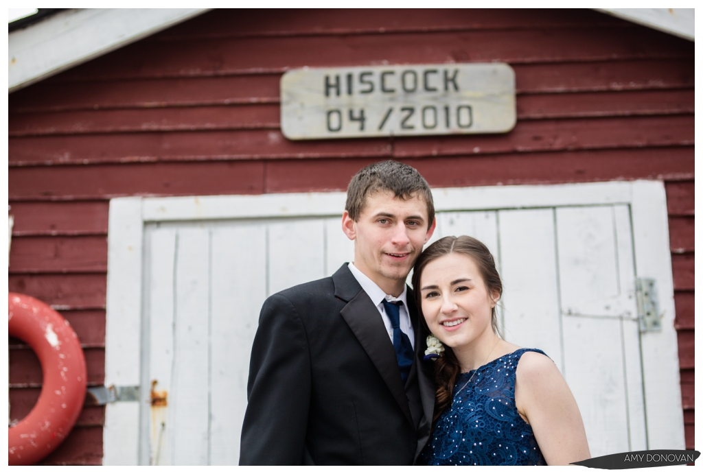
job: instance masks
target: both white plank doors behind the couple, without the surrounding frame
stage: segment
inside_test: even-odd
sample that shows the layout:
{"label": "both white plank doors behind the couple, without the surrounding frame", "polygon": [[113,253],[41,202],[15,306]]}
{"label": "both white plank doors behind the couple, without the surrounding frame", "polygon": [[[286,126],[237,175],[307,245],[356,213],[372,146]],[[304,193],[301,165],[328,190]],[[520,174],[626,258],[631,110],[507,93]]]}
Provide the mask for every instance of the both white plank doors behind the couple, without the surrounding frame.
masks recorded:
{"label": "both white plank doors behind the couple, without the surrounding frame", "polygon": [[[541,348],[583,415],[593,456],[646,449],[627,206],[437,214],[434,239],[472,235],[505,282],[506,340]],[[146,232],[150,383],[168,393],[150,462],[234,464],[248,357],[266,296],[353,258],[340,217],[153,225]]]}

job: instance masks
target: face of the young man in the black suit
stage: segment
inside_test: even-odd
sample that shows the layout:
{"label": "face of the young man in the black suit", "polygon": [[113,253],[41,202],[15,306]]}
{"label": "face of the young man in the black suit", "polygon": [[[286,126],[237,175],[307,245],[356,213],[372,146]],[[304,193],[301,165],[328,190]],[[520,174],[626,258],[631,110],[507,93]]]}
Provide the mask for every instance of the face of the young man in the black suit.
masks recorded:
{"label": "face of the young man in the black suit", "polygon": [[381,190],[366,197],[358,222],[344,211],[342,229],[355,241],[354,266],[392,294],[403,290],[423,245],[432,237],[434,222],[428,229],[422,197],[415,194],[404,200]]}

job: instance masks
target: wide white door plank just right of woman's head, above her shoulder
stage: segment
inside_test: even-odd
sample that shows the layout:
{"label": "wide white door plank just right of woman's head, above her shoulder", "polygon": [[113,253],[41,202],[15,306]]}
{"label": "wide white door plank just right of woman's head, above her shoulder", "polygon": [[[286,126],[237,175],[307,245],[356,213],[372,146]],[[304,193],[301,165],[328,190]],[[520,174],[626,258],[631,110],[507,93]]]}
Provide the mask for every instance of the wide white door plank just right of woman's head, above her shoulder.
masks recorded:
{"label": "wide white door plank just right of woman's head, above her shoulder", "polygon": [[543,350],[564,373],[553,209],[498,211],[506,341]]}

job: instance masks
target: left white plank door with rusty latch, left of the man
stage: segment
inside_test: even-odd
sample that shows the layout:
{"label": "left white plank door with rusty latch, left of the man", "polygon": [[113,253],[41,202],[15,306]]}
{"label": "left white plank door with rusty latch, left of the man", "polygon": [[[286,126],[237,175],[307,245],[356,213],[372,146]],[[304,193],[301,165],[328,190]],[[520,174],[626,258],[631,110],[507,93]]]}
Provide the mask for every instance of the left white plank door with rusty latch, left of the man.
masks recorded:
{"label": "left white plank door with rusty latch, left of the man", "polygon": [[353,258],[353,244],[339,218],[153,224],[145,242],[143,382],[165,394],[166,403],[150,405],[142,461],[237,464],[264,300],[331,275]]}

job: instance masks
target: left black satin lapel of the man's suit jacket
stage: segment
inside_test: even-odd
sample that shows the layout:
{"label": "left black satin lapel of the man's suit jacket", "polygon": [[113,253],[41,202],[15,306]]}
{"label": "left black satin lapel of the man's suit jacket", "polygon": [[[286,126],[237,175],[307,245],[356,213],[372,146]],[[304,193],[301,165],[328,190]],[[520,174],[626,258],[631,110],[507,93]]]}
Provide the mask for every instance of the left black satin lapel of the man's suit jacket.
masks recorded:
{"label": "left black satin lapel of the man's suit jacket", "polygon": [[403,413],[412,423],[413,416],[410,412],[408,397],[400,376],[396,353],[378,308],[375,307],[366,291],[361,289],[361,285],[356,281],[352,272],[349,271],[346,263],[342,265],[340,270],[335,272],[332,279],[335,282],[335,296],[342,301],[348,301],[341,311],[344,321],[352,329],[354,336],[359,340],[361,347],[366,351],[376,369],[378,369],[378,373],[385,381]]}

